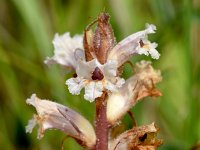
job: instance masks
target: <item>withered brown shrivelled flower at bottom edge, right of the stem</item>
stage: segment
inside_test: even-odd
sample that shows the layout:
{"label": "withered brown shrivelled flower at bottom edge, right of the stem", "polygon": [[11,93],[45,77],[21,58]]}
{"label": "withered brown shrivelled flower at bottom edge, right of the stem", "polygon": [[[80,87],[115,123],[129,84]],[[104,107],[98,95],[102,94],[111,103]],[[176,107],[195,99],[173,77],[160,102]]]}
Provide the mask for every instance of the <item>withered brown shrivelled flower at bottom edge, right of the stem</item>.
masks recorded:
{"label": "withered brown shrivelled flower at bottom edge, right of the stem", "polygon": [[109,150],[155,150],[163,142],[156,138],[155,124],[133,127],[112,140]]}

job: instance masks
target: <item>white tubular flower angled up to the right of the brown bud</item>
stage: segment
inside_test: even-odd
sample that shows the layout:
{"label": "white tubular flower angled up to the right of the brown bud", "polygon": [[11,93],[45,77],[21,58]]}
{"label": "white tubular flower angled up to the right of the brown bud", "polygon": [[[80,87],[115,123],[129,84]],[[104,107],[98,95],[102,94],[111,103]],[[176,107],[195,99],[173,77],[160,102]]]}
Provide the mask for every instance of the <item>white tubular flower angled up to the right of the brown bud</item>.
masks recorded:
{"label": "white tubular flower angled up to the right of the brown bud", "polygon": [[[148,34],[155,33],[156,26],[152,24],[146,24],[146,29],[143,31],[136,32],[127,38],[120,41],[108,54],[108,59],[116,60],[118,66],[124,64],[130,57],[134,54],[152,54],[152,58],[158,59],[160,54],[155,49],[155,45],[150,45],[149,53],[146,52],[146,49],[140,49],[138,51],[138,46],[140,45],[141,39],[147,39]],[[152,47],[151,47],[152,46]]]}

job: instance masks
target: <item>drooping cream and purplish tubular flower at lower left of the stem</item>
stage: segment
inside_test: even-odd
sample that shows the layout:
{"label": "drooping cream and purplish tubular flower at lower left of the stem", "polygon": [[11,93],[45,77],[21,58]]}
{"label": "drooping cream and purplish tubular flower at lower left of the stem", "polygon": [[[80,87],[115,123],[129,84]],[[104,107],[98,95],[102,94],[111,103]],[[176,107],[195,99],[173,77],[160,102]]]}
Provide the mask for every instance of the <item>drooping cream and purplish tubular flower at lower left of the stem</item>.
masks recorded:
{"label": "drooping cream and purplish tubular flower at lower left of the stem", "polygon": [[75,138],[83,146],[92,149],[96,143],[96,135],[90,122],[76,111],[61,104],[41,100],[35,94],[27,99],[27,104],[36,108],[37,115],[29,120],[26,132],[31,133],[36,124],[39,125],[38,138],[42,138],[48,129],[58,129]]}

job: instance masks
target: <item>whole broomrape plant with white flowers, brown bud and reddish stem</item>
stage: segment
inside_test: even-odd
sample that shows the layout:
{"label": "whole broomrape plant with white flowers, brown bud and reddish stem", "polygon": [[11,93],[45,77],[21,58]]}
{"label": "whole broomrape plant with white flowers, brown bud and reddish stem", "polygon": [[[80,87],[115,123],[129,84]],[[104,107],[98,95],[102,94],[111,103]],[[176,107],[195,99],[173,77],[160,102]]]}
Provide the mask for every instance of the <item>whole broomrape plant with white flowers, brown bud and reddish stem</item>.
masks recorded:
{"label": "whole broomrape plant with white flowers, brown bud and reddish stem", "polygon": [[[93,32],[94,24],[97,26]],[[154,123],[139,127],[133,125],[132,129],[115,138],[110,136],[113,127],[126,113],[130,114],[130,109],[139,100],[161,96],[155,88],[155,84],[162,80],[161,73],[150,62],[136,63],[134,75],[126,81],[120,77],[123,64],[133,55],[144,54],[159,59],[157,44],[148,40],[148,35],[155,30],[154,25],[147,24],[143,31],[117,43],[109,15],[102,12],[86,27],[84,35],[56,34],[54,56],[48,57],[45,63],[56,63],[75,72],[72,78],[67,79],[66,85],[74,95],[84,89],[84,99],[95,102],[95,130],[78,112],[33,94],[26,102],[36,108],[37,114],[29,120],[26,132],[31,133],[38,124],[40,139],[47,129],[59,129],[89,150],[156,149],[162,140],[156,139],[158,128]]]}

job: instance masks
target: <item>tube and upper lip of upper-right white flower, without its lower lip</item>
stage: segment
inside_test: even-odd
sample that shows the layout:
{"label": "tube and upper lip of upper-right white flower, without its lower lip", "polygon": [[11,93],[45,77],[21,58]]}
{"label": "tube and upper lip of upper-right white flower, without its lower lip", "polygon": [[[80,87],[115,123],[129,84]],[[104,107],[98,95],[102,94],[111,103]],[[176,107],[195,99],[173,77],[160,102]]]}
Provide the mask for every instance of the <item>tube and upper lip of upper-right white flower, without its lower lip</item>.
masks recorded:
{"label": "tube and upper lip of upper-right white flower, without its lower lip", "polygon": [[146,25],[146,29],[136,32],[120,41],[108,54],[108,60],[116,60],[118,67],[125,63],[133,54],[137,54],[136,47],[140,39],[145,38],[148,34],[155,33],[154,25]]}

